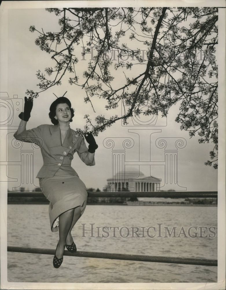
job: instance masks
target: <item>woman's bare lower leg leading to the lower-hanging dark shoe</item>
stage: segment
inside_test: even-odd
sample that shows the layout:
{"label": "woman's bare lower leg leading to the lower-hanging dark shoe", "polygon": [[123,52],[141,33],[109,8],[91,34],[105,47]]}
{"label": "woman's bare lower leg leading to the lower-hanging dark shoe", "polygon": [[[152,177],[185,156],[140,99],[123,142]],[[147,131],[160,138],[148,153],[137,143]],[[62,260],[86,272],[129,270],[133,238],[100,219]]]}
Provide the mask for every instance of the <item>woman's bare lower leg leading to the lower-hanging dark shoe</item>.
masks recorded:
{"label": "woman's bare lower leg leading to the lower-hanging dark shoe", "polygon": [[62,213],[59,216],[59,242],[56,248],[56,257],[58,259],[62,258],[64,254],[66,238],[71,228],[74,217],[74,210],[75,209],[69,209],[69,211],[65,211],[65,213]]}

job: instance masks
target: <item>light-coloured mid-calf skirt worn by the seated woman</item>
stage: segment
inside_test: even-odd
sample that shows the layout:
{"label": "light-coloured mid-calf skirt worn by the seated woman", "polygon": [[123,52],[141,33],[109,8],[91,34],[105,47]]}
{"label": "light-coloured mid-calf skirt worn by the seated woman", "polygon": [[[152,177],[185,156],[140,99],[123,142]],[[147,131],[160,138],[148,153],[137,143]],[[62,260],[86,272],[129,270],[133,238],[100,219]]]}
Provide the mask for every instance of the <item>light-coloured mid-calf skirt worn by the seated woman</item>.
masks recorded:
{"label": "light-coloured mid-calf skirt worn by the seated woman", "polygon": [[79,207],[81,215],[87,203],[86,186],[78,176],[73,176],[59,169],[53,177],[39,178],[43,194],[49,200],[49,220],[51,231],[58,231],[59,216]]}

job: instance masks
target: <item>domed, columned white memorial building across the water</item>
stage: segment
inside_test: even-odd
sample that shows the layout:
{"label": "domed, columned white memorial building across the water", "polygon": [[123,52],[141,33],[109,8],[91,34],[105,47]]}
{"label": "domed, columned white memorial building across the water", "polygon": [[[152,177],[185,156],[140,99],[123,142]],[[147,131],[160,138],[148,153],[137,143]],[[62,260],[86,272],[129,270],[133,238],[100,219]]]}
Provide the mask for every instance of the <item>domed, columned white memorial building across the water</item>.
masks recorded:
{"label": "domed, columned white memorial building across the water", "polygon": [[105,191],[159,191],[161,178],[144,176],[137,170],[120,171],[107,179]]}

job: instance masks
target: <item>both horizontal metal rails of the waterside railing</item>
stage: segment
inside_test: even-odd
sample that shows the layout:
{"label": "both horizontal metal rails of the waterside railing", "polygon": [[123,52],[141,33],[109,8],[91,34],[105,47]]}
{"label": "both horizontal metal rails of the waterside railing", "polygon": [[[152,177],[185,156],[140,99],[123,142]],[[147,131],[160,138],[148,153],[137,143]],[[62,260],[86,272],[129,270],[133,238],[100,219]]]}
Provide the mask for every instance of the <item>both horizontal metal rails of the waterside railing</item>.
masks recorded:
{"label": "both horizontal metal rails of the waterside railing", "polygon": [[[42,192],[9,192],[8,197],[44,197]],[[204,197],[204,198],[217,198],[217,191],[153,191],[153,192],[88,192],[88,197]],[[24,247],[11,247],[8,246],[8,252],[20,253],[34,253],[34,254],[47,254],[54,255],[55,249],[40,249],[40,248],[24,248]],[[114,259],[114,260],[130,260],[142,262],[159,262],[159,263],[172,263],[172,264],[190,264],[190,265],[204,265],[204,266],[217,266],[215,259],[202,259],[202,258],[183,258],[183,257],[163,257],[163,256],[148,256],[148,255],[130,255],[118,253],[100,253],[100,252],[86,252],[77,251],[70,253],[65,251],[66,256],[75,257],[89,257],[101,259]]]}

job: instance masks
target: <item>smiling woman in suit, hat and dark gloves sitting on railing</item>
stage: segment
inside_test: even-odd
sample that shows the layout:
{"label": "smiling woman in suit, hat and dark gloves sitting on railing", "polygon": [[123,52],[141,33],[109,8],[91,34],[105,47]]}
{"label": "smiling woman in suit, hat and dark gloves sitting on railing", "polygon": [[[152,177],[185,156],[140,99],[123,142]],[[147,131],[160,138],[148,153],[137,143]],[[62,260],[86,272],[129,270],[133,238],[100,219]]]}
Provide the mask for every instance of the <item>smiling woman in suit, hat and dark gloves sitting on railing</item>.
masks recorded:
{"label": "smiling woman in suit, hat and dark gloves sitting on railing", "polygon": [[94,153],[98,145],[91,132],[85,135],[89,144],[86,147],[84,137],[76,134],[69,126],[74,117],[71,102],[65,97],[57,98],[50,106],[49,117],[54,125],[41,125],[26,130],[27,121],[33,106],[33,99],[25,97],[24,111],[14,137],[23,142],[38,142],[43,156],[43,166],[38,172],[39,184],[43,194],[49,200],[49,219],[53,232],[59,230],[59,241],[53,259],[55,268],[63,262],[65,245],[68,251],[75,253],[76,245],[71,230],[85,210],[87,191],[84,183],[71,167],[75,152],[87,165],[95,165]]}

